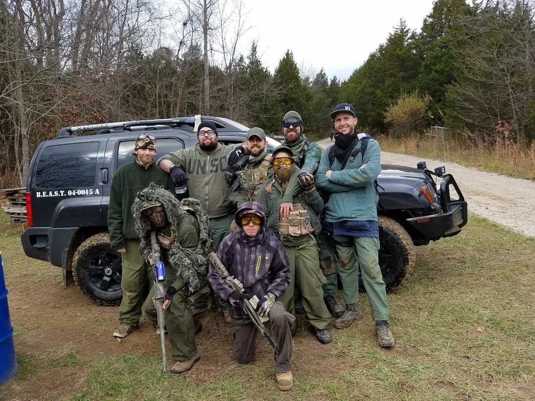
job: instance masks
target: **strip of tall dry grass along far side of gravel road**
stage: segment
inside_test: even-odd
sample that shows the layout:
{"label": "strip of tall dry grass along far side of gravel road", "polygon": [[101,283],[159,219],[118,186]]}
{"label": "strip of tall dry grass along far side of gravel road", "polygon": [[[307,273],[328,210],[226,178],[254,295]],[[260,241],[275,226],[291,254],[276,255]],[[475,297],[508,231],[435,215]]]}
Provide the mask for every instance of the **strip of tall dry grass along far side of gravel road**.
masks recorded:
{"label": "strip of tall dry grass along far side of gravel road", "polygon": [[535,142],[530,146],[498,140],[486,144],[481,140],[445,140],[437,142],[429,136],[409,135],[378,137],[381,150],[427,158],[450,160],[516,178],[535,180]]}

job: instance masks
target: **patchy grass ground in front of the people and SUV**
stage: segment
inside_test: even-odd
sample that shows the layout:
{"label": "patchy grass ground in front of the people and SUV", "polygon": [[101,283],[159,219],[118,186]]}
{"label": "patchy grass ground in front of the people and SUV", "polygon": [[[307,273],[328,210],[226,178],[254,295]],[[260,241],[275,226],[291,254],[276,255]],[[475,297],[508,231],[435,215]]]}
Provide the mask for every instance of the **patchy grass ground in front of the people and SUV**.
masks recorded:
{"label": "patchy grass ground in front of the people and SUV", "polygon": [[[18,235],[14,228],[0,234],[0,250],[10,265],[6,283],[15,301],[21,291],[30,298],[42,287],[61,282],[57,270],[24,256]],[[261,338],[255,363],[240,366],[230,360],[230,331],[224,338],[203,338],[208,336],[203,330],[199,366],[186,375],[171,375],[162,373],[157,347],[143,343],[124,353],[105,347],[87,353],[75,345],[43,353],[25,339],[47,327],[35,327],[18,317],[19,309],[12,309],[20,367],[16,377],[0,387],[0,399],[533,400],[534,257],[533,238],[471,214],[461,234],[418,247],[416,272],[388,295],[393,349],[377,346],[362,295],[364,319],[346,330],[332,328],[332,344],[319,344],[301,327],[294,340],[295,387],[289,392],[276,389],[272,354]],[[91,325],[102,325],[116,313],[116,308],[93,307],[81,294],[72,294],[82,299],[75,306]],[[103,317],[94,311],[104,311]],[[210,331],[210,317],[203,322],[208,333],[217,333]],[[83,334],[73,323],[65,342],[78,335]],[[102,336],[111,337],[107,332]],[[61,397],[50,396],[50,388],[61,385]]]}

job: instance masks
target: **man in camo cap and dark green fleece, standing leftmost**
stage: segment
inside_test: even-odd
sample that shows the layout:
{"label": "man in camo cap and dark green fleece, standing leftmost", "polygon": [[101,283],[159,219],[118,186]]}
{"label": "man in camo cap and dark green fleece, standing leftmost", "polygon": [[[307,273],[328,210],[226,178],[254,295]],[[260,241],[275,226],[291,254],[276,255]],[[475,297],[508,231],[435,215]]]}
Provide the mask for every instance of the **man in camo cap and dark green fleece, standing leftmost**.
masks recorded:
{"label": "man in camo cap and dark green fleece, standing leftmost", "polygon": [[152,275],[139,253],[139,235],[134,229],[132,204],[136,194],[151,182],[174,193],[171,176],[154,163],[154,136],[139,135],[132,155],[135,156],[132,163],[120,166],[113,174],[108,209],[111,247],[123,258],[123,300],[119,308],[119,328],[113,333],[116,337],[126,337],[137,328],[144,300],[143,287],[152,280]]}

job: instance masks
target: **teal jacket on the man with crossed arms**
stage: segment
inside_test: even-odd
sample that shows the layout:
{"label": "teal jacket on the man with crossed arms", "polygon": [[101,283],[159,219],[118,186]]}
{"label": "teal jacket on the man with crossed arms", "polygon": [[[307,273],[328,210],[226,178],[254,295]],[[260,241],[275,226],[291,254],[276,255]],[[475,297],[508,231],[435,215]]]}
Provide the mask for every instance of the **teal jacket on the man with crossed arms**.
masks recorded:
{"label": "teal jacket on the man with crossed arms", "polygon": [[[353,152],[360,149],[362,141],[358,141]],[[359,152],[353,161],[348,161],[343,170],[338,159],[329,163],[331,146],[323,153],[316,173],[316,187],[325,192],[331,192],[331,197],[325,205],[325,219],[329,222],[343,220],[377,220],[377,202],[379,197],[373,181],[381,172],[381,150],[376,140],[370,139],[364,160]],[[365,167],[362,167],[366,164]],[[325,173],[331,170],[329,178]]]}

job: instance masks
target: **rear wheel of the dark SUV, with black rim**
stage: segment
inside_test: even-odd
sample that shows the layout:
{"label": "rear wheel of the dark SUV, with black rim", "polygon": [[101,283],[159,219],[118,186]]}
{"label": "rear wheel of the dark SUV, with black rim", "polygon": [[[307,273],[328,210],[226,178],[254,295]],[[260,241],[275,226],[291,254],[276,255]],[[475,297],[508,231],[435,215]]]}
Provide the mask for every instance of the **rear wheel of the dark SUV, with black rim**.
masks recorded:
{"label": "rear wheel of the dark SUV, with black rim", "polygon": [[111,248],[108,232],[87,238],[74,252],[72,276],[80,290],[101,305],[119,305],[121,256]]}

